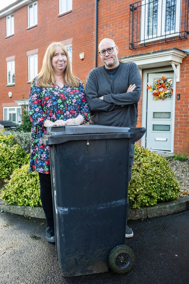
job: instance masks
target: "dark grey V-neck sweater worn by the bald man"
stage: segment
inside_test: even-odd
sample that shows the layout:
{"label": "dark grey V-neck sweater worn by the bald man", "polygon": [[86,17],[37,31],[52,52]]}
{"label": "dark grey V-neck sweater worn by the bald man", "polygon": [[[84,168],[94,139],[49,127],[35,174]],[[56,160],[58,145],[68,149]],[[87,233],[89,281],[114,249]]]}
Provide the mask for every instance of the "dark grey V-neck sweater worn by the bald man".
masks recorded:
{"label": "dark grey V-neck sweater worn by the bald man", "polygon": [[[133,92],[126,93],[131,84],[136,84],[136,88]],[[120,62],[114,77],[105,71],[104,65],[92,69],[85,86],[87,101],[92,111],[90,123],[136,127],[141,86],[141,74],[133,62]],[[99,99],[102,96],[103,100]]]}

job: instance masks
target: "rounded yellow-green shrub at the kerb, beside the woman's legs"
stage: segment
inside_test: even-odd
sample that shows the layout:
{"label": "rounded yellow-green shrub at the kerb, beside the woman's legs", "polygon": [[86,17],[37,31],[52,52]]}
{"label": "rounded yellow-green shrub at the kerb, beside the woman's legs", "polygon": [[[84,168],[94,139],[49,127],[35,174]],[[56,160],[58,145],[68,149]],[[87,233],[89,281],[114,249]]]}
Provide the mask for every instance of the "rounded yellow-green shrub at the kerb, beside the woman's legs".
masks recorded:
{"label": "rounded yellow-green shrub at the kerb, beside the woman's legs", "polygon": [[15,169],[1,191],[1,198],[18,205],[41,206],[38,172],[29,172],[29,164]]}

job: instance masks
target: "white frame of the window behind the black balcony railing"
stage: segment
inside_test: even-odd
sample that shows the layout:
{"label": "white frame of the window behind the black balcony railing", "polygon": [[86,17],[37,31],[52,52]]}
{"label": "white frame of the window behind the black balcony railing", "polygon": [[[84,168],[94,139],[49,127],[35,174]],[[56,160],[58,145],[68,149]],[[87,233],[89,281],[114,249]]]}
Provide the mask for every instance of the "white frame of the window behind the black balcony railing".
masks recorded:
{"label": "white frame of the window behind the black balcony railing", "polygon": [[[161,14],[162,11],[162,17],[157,18],[157,33],[153,35],[147,35],[147,17],[148,17],[148,3],[152,2],[152,0],[142,0],[141,1],[141,41],[140,43],[149,42],[149,41],[155,41],[162,38],[170,38],[173,36],[178,36],[180,32],[180,5],[181,0],[176,0],[176,15],[175,15],[175,30],[173,31],[167,31],[165,32],[165,13],[166,13],[166,0],[158,0],[158,11],[157,15]],[[159,19],[159,20],[158,20]],[[162,23],[161,23],[162,20]],[[144,26],[145,25],[145,26]],[[160,29],[159,29],[160,27]],[[139,44],[140,44],[139,43]]]}

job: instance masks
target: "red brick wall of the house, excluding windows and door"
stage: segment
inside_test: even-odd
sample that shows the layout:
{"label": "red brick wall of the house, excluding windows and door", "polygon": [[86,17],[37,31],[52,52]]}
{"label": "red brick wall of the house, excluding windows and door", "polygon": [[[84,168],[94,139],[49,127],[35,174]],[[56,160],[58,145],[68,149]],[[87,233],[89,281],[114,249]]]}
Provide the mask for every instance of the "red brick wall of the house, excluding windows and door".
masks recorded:
{"label": "red brick wall of the house, excluding windows and door", "polygon": [[[110,3],[111,2],[111,3]],[[135,1],[133,1],[135,2]],[[189,48],[189,40],[154,44],[136,50],[129,49],[129,1],[98,1],[98,44],[103,38],[113,38],[119,48],[119,57],[143,54],[151,51]],[[72,41],[72,70],[80,79],[86,79],[94,68],[95,58],[95,0],[73,0],[71,13],[58,17],[58,0],[38,0],[38,25],[27,30],[27,5],[14,12],[14,36],[6,36],[6,17],[0,19],[0,120],[3,119],[2,104],[28,98],[30,84],[27,84],[27,51],[38,48],[38,71],[41,68],[46,47],[52,41]],[[183,15],[182,15],[183,17]],[[79,54],[84,52],[84,60]],[[97,50],[98,52],[98,50]],[[6,87],[6,57],[15,55],[15,86]],[[176,94],[180,100],[175,105],[174,152],[189,155],[188,146],[188,97],[189,97],[189,57],[180,66],[180,82],[176,83]],[[101,66],[97,56],[97,66]],[[12,92],[12,98],[8,97]],[[17,104],[15,104],[17,105]],[[139,102],[138,126],[141,126],[142,96]]]}

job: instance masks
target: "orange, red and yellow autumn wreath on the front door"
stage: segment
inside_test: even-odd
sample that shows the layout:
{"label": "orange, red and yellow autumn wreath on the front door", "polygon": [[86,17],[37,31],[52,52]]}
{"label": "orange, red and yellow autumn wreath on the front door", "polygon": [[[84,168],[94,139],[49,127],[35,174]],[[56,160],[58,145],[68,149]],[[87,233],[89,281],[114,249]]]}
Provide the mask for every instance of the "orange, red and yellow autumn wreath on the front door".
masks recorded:
{"label": "orange, red and yellow autumn wreath on the front door", "polygon": [[164,100],[166,98],[170,99],[173,93],[173,89],[171,88],[172,79],[167,81],[165,77],[155,80],[154,84],[151,86],[147,86],[147,89],[152,92],[152,95],[155,100]]}

